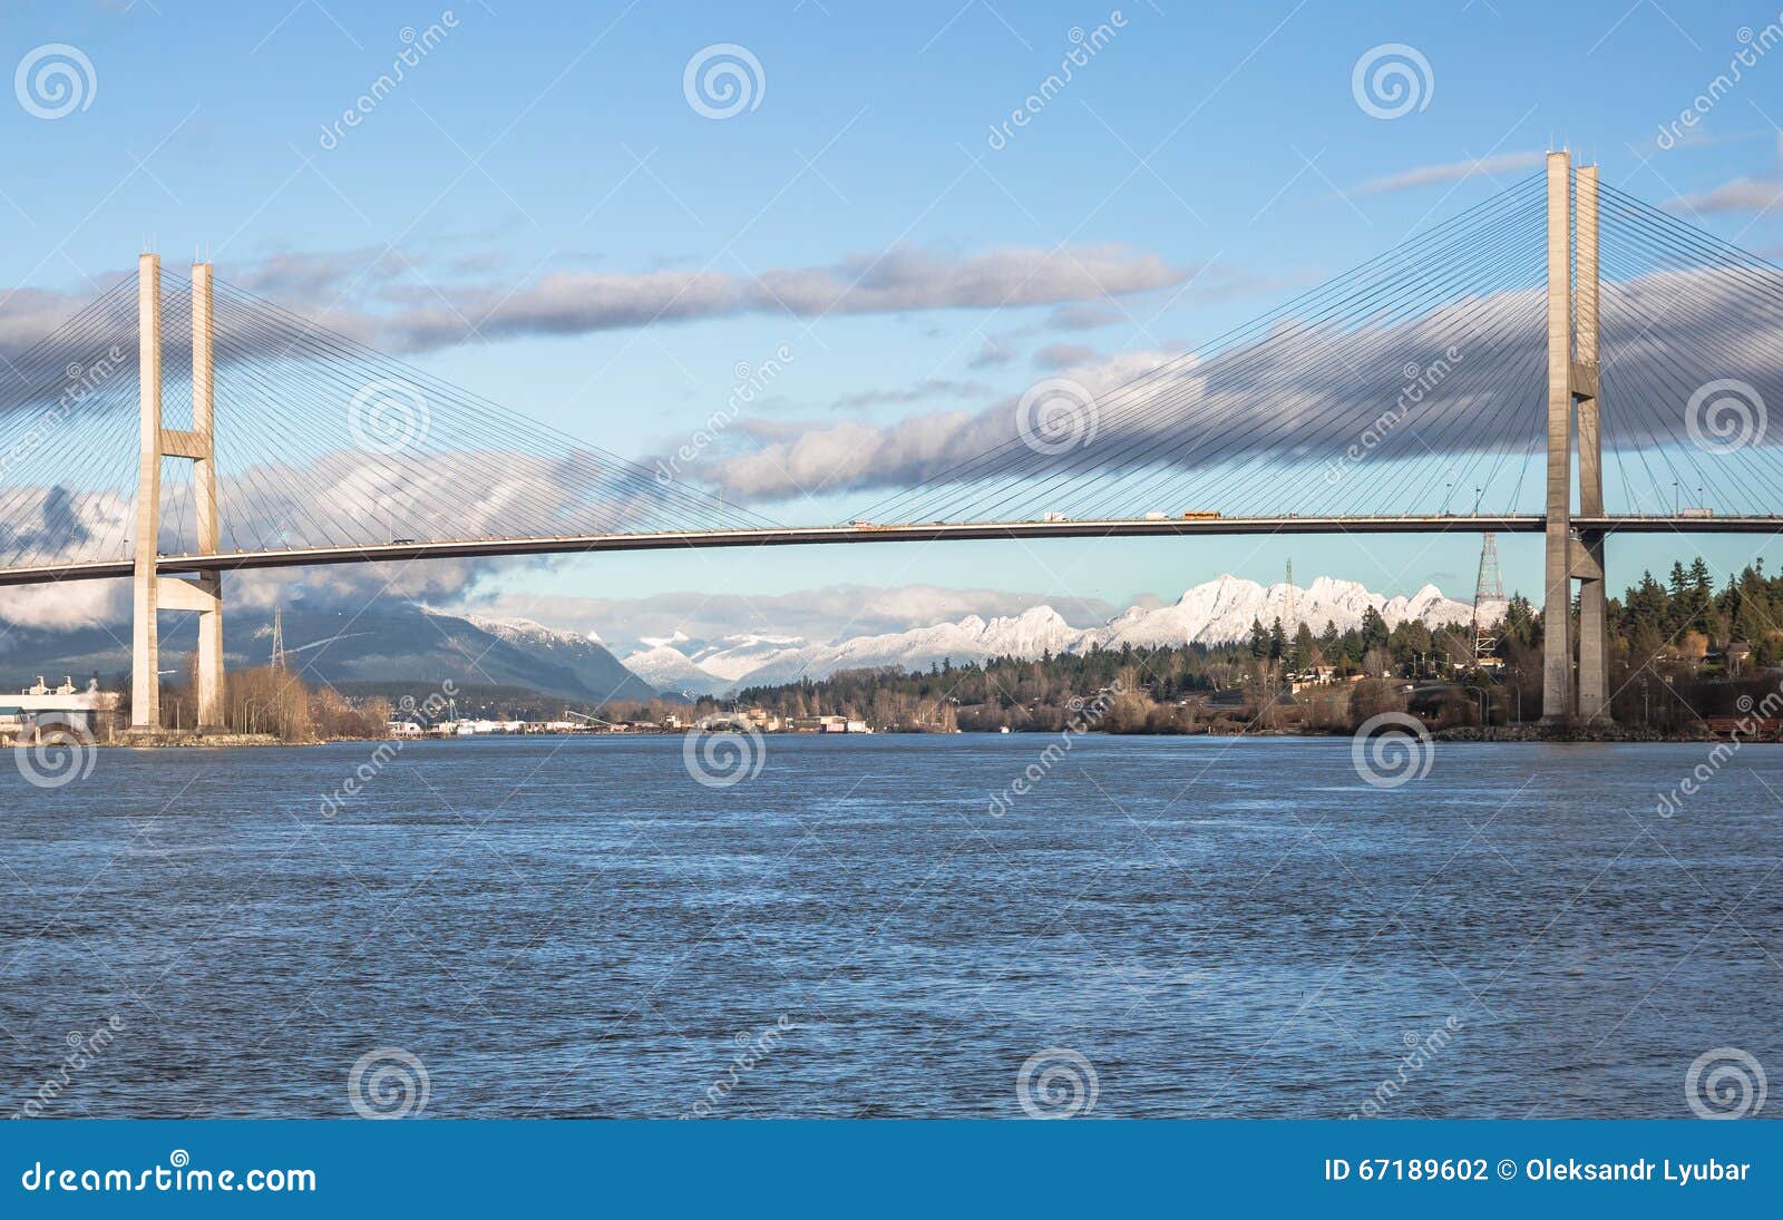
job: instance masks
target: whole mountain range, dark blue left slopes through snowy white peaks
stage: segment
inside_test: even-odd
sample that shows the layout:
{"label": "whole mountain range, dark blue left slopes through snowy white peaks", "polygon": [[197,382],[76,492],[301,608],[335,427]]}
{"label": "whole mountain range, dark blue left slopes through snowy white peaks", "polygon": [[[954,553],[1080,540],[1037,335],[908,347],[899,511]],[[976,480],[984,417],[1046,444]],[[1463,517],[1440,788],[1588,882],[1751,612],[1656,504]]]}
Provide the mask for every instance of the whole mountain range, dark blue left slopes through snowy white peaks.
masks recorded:
{"label": "whole mountain range, dark blue left slopes through snowy white peaks", "polygon": [[[451,678],[462,687],[514,687],[576,703],[645,701],[658,696],[694,699],[745,687],[779,685],[801,678],[827,678],[840,669],[927,669],[984,662],[995,656],[1082,653],[1093,647],[1173,644],[1234,644],[1250,637],[1252,622],[1280,619],[1289,631],[1305,622],[1314,633],[1327,622],[1339,631],[1362,624],[1376,610],[1389,626],[1419,621],[1426,626],[1469,622],[1473,605],[1425,585],[1410,598],[1369,592],[1348,580],[1319,576],[1305,589],[1259,585],[1220,576],[1159,606],[1132,606],[1113,619],[1073,626],[1048,605],[1013,615],[965,615],[950,622],[904,631],[811,642],[797,635],[742,633],[694,640],[676,631],[645,637],[622,662],[592,633],[558,631],[530,619],[490,619],[435,610],[412,601],[380,599],[358,612],[305,603],[283,610],[287,664],[316,681],[333,685],[439,685]],[[1494,621],[1503,605],[1487,606]],[[271,656],[273,615],[232,608],[225,617],[226,665],[264,665]],[[191,615],[162,624],[164,664],[184,665],[182,653],[196,644]],[[37,676],[52,683],[64,676],[84,681],[100,674],[116,685],[130,667],[127,624],[52,631],[11,626],[0,633],[0,683],[23,688]]]}

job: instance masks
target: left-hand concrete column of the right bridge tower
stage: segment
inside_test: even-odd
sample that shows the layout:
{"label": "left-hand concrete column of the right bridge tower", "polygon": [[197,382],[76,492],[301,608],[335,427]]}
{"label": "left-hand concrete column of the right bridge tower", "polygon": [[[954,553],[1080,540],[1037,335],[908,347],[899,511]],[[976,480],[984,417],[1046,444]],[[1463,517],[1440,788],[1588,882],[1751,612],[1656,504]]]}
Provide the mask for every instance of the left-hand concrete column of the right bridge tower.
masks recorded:
{"label": "left-hand concrete column of the right bridge tower", "polygon": [[1573,159],[1548,153],[1548,553],[1542,721],[1573,717]]}

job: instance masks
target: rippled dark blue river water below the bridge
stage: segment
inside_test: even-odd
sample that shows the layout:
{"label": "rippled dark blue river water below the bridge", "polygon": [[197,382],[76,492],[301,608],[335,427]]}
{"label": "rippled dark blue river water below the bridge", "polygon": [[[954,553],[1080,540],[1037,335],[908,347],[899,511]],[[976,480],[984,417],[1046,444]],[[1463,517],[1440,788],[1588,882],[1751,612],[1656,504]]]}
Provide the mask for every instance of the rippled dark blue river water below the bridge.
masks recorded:
{"label": "rippled dark blue river water below the bridge", "polygon": [[5,765],[5,1109],[1689,1118],[1708,1051],[1783,1072],[1783,749],[1057,744]]}

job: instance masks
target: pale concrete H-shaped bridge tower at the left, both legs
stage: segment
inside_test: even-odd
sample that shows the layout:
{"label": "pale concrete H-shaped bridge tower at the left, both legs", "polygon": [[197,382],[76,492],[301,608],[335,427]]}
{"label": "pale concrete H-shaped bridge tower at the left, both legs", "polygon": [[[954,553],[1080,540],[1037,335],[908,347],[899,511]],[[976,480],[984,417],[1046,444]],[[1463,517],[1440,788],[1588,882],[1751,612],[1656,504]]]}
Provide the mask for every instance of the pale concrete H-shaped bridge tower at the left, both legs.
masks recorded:
{"label": "pale concrete H-shaped bridge tower at the left, both legs", "polygon": [[136,517],[136,656],[132,678],[134,730],[160,728],[160,610],[198,612],[196,703],[200,731],[223,728],[223,576],[196,580],[160,576],[160,460],[193,462],[196,553],[216,555],[221,542],[216,489],[216,366],[212,342],[210,264],[193,266],[193,426],[164,428],[160,419],[160,259],[143,255],[137,305],[141,328],[141,444]]}

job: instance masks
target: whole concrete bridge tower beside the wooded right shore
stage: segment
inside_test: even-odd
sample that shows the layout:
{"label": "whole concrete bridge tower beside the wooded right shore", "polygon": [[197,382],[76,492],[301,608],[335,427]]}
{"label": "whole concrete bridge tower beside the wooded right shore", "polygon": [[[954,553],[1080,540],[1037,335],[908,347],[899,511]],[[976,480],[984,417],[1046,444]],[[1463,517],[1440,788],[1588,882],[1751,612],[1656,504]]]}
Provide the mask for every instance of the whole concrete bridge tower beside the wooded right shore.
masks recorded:
{"label": "whole concrete bridge tower beside the wooded right shore", "polygon": [[[1598,400],[1598,168],[1548,153],[1548,530],[1542,599],[1542,722],[1610,721],[1608,598],[1603,532],[1603,417]],[[1574,300],[1574,273],[1578,278]],[[1576,433],[1574,433],[1576,425]],[[1573,671],[1573,581],[1580,581],[1578,676]]]}

